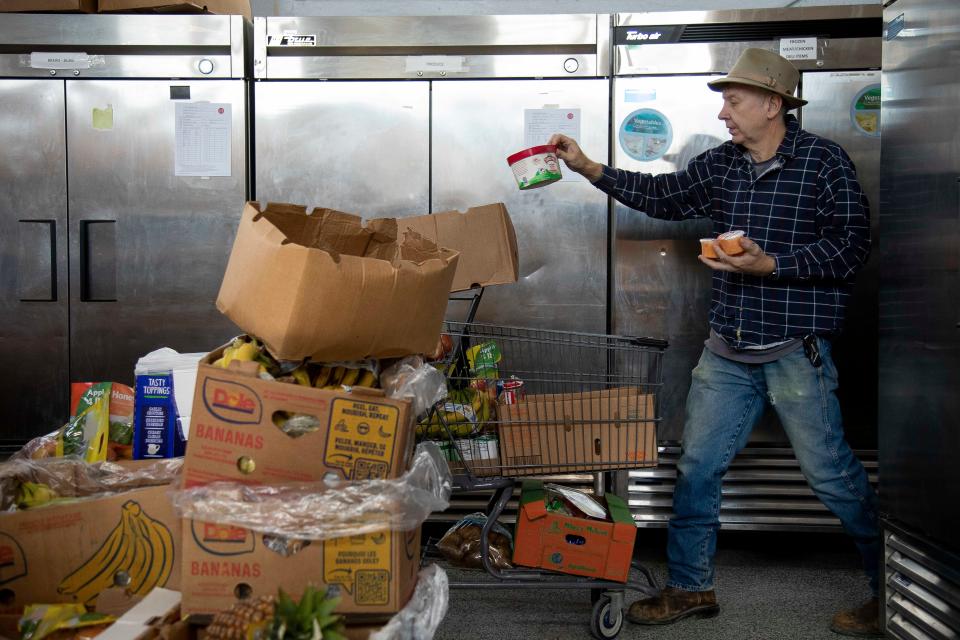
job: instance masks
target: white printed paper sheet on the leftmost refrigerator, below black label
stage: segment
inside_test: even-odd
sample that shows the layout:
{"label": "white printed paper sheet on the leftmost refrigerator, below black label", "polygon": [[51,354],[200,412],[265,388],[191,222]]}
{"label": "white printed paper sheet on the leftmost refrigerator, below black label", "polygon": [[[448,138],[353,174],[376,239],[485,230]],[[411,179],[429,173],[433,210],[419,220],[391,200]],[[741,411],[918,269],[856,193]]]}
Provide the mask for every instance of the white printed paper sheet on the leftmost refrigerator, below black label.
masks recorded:
{"label": "white printed paper sheet on the leftmost refrigerator, below black label", "polygon": [[230,175],[230,105],[176,103],[174,175]]}

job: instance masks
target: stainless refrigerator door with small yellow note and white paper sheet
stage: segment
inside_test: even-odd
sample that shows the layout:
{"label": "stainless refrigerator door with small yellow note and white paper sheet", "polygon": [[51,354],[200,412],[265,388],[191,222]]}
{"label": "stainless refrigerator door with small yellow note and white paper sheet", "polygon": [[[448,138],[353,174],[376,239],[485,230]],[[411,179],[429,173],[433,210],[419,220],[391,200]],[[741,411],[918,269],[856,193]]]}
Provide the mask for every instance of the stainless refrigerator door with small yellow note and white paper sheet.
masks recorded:
{"label": "stainless refrigerator door with small yellow note and white paper sheet", "polygon": [[[175,97],[229,116],[222,138],[180,123],[181,159],[198,149],[186,134],[209,135],[229,143],[229,175],[175,175]],[[67,82],[71,379],[129,383],[150,350],[238,332],[214,302],[246,196],[245,122],[243,81]]]}

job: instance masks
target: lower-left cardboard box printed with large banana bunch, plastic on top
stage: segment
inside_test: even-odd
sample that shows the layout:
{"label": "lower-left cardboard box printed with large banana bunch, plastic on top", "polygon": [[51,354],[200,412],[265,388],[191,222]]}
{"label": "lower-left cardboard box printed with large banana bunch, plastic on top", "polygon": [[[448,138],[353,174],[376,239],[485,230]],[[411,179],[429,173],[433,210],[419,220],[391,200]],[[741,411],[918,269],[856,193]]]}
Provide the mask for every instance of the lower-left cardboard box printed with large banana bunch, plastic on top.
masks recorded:
{"label": "lower-left cardboard box printed with large banana bunch, plastic on top", "polygon": [[[134,596],[154,587],[177,589],[180,519],[166,485],[176,477],[179,462],[4,462],[0,508],[16,502],[20,509],[0,514],[4,605],[94,606],[118,576]],[[40,501],[24,493],[32,486],[66,500],[24,509]]]}

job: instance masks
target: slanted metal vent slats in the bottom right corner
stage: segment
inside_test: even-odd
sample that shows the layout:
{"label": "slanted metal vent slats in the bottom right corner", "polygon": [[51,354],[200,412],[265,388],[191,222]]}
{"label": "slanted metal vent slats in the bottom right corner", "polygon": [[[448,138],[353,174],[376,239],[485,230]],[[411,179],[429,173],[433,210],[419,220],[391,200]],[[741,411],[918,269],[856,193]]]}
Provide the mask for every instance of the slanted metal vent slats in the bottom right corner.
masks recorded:
{"label": "slanted metal vent slats in the bottom right corner", "polygon": [[960,558],[884,532],[887,634],[902,640],[960,638]]}

